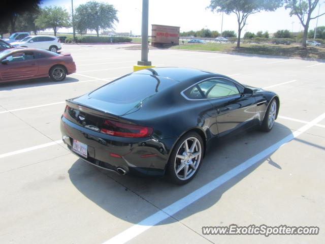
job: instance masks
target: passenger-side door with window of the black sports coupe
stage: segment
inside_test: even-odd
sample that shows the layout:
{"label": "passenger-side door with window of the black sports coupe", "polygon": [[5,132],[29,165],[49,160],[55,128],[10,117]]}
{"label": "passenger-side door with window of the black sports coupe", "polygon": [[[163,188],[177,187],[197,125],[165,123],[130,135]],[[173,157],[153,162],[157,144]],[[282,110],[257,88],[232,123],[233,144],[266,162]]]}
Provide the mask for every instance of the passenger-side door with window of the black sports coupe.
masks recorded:
{"label": "passenger-side door with window of the black sports coupe", "polygon": [[213,108],[219,136],[252,126],[256,113],[255,99],[243,95],[243,87],[222,77],[198,84]]}

